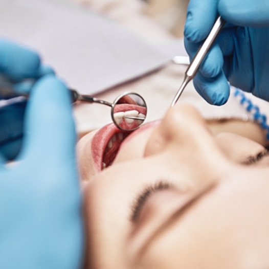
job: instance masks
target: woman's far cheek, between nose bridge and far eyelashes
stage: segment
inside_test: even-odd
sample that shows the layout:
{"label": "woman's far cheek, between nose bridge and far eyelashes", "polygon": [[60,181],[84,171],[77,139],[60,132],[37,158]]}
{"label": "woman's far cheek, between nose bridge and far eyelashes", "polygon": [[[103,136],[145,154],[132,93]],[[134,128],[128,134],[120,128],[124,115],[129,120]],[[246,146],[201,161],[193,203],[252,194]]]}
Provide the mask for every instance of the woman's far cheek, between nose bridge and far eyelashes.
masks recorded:
{"label": "woman's far cheek, between nose bridge and far eyelashes", "polygon": [[257,142],[234,133],[219,133],[215,140],[228,158],[237,163],[246,161],[250,155],[255,155],[264,149]]}

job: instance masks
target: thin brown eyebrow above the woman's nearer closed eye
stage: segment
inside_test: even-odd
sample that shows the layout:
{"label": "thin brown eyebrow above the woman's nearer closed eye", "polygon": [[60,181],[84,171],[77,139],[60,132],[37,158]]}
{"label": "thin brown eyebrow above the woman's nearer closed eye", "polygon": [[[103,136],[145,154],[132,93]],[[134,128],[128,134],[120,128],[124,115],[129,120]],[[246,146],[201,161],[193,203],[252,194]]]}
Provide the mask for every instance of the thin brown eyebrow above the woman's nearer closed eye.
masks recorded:
{"label": "thin brown eyebrow above the woman's nearer closed eye", "polygon": [[209,186],[205,187],[205,189],[201,192],[198,192],[197,195],[194,195],[189,200],[187,200],[187,203],[184,204],[182,207],[180,207],[178,210],[176,210],[147,240],[146,242],[141,246],[141,249],[139,253],[137,254],[137,257],[140,258],[148,248],[148,246],[151,244],[151,242],[159,235],[164,232],[172,223],[174,223],[175,220],[178,220],[178,218],[182,217],[183,214],[189,210],[194,204],[198,202],[201,198],[203,198],[205,195],[207,195],[209,192],[211,192],[215,187],[217,186],[217,182],[214,181]]}

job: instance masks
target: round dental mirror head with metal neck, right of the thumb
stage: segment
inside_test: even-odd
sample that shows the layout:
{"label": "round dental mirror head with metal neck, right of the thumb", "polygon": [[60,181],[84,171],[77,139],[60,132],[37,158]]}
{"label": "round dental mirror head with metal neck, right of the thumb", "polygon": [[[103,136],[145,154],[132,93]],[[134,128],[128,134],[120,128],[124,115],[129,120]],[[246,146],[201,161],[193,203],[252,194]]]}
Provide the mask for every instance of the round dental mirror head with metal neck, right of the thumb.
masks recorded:
{"label": "round dental mirror head with metal neck, right of the thumb", "polygon": [[118,96],[113,103],[97,99],[88,95],[80,95],[71,90],[73,102],[77,100],[89,103],[99,103],[111,107],[111,118],[114,124],[123,131],[137,129],[146,119],[147,105],[142,96],[137,93],[124,93]]}

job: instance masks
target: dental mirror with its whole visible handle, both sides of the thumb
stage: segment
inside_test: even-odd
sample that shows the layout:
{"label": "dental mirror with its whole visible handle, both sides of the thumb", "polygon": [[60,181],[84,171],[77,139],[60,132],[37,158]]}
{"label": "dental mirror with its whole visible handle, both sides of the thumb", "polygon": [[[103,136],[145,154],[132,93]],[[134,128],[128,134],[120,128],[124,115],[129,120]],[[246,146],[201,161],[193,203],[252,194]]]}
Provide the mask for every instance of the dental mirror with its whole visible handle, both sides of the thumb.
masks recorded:
{"label": "dental mirror with its whole visible handle, both sides of the thumb", "polygon": [[[118,96],[113,103],[97,99],[89,95],[80,95],[70,89],[73,102],[82,101],[99,103],[111,107],[111,118],[114,124],[123,131],[137,129],[146,119],[147,105],[145,100],[137,93],[124,93]],[[28,94],[19,94],[10,85],[0,85],[0,109],[9,105],[23,103],[28,100]]]}

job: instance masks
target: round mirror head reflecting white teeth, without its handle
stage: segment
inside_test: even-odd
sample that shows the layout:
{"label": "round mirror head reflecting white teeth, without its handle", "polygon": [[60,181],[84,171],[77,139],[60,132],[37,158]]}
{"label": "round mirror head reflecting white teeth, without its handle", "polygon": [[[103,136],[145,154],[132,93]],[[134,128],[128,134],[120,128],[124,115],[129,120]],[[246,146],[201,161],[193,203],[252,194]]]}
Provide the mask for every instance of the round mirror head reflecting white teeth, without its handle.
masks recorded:
{"label": "round mirror head reflecting white teeth, without its handle", "polygon": [[146,119],[147,105],[136,93],[125,93],[112,104],[111,117],[115,125],[123,131],[137,129]]}

